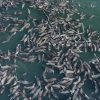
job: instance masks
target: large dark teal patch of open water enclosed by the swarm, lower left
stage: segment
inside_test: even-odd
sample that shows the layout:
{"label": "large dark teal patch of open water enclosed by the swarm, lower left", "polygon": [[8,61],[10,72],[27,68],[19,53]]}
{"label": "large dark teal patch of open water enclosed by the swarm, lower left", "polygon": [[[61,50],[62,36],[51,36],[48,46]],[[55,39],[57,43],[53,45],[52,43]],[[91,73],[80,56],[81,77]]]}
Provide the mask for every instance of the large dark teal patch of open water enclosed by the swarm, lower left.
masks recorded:
{"label": "large dark teal patch of open water enclosed by the swarm, lower left", "polygon": [[[18,78],[19,79],[25,78],[26,80],[31,81],[31,82],[35,81],[34,80],[35,75],[38,77],[42,75],[43,66],[44,66],[44,64],[38,63],[38,62],[29,63],[29,62],[22,62],[22,61],[17,61],[17,65],[19,66],[17,68]],[[27,73],[25,77],[23,77],[24,73]]]}

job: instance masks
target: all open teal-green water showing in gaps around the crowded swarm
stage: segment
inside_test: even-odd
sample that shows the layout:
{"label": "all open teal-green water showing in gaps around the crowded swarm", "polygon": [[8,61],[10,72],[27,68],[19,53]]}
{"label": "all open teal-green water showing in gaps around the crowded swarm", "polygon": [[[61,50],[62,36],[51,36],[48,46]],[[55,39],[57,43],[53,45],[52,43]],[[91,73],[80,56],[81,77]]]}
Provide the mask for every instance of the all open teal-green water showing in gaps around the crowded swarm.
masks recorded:
{"label": "all open teal-green water showing in gaps around the crowded swarm", "polygon": [[[92,28],[98,32],[100,32],[100,0],[73,0],[76,3],[80,3],[80,8],[79,8],[79,11],[80,12],[83,12],[83,14],[86,14],[87,17],[84,19],[84,25],[85,25],[85,28],[88,26],[88,25],[91,25]],[[92,8],[91,7],[91,4],[94,4],[95,7]],[[9,9],[9,11],[7,13],[11,13],[13,14],[15,12],[15,10],[21,10],[21,5],[19,5],[18,8],[16,9]],[[0,9],[0,12],[2,10]],[[45,19],[46,16],[45,14],[38,10],[38,9],[31,9],[31,15],[38,19],[38,20],[41,20],[41,19]],[[94,18],[92,19],[89,19],[89,17],[91,15],[94,15]],[[26,7],[24,8],[23,10],[23,14],[22,16],[18,16],[19,19],[25,19],[27,20],[27,5]],[[31,22],[31,21],[30,21]],[[12,22],[5,22],[5,24],[9,24],[9,23],[12,23]],[[4,52],[7,52],[8,49],[13,52],[15,51],[16,49],[16,46],[17,44],[20,42],[21,38],[23,37],[24,34],[27,34],[27,31],[24,30],[23,32],[18,32],[15,36],[13,36],[13,38],[10,39],[9,42],[7,43],[4,43],[4,44],[0,44],[0,50],[4,51]],[[11,34],[9,32],[0,32],[0,43],[2,41],[5,41],[9,38]],[[100,56],[100,52],[96,52],[97,56]],[[93,59],[93,52],[88,52],[88,53],[81,53],[80,54],[81,58],[83,60],[90,60],[90,59]],[[1,63],[9,63],[9,62],[1,62]],[[45,67],[45,64],[41,64],[41,63],[38,63],[38,62],[35,62],[35,63],[26,63],[26,62],[23,62],[23,61],[20,61],[20,60],[17,60],[17,65],[19,66],[17,68],[17,76],[18,78],[25,78],[27,79],[28,81],[34,81],[34,76],[40,76],[42,74],[42,68]],[[24,72],[27,72],[27,76],[26,77],[22,77],[22,74]],[[88,85],[91,86],[91,88],[88,88]],[[9,91],[8,91],[8,88],[6,88],[6,91],[0,95],[0,100],[10,100],[9,99]],[[85,88],[84,88],[84,91],[89,95],[89,92],[92,91],[92,85],[89,83],[89,82],[86,82],[85,83]],[[62,100],[65,100],[63,97],[62,97]]]}

